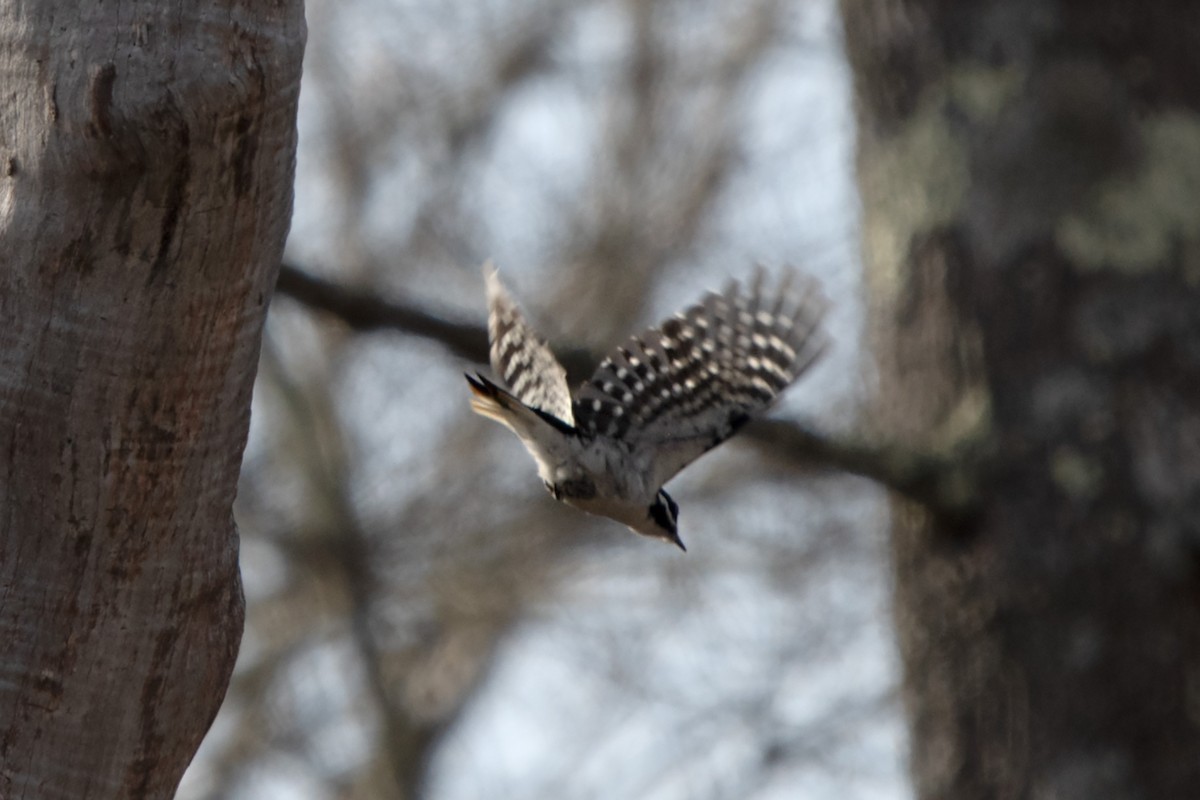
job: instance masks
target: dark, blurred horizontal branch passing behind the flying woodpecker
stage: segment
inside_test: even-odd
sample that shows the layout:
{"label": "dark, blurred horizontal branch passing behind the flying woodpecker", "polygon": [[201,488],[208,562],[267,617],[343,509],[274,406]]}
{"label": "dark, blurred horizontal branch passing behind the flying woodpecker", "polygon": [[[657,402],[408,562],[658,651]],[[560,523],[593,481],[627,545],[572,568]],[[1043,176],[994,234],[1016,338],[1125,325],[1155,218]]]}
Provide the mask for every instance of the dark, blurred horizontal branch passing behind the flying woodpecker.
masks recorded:
{"label": "dark, blurred horizontal branch passing behind the flying woodpecker", "polygon": [[[445,319],[419,306],[383,300],[371,291],[318,278],[284,264],[278,293],[340,319],[354,331],[394,330],[437,342],[455,355],[487,363],[487,329]],[[586,377],[598,363],[574,348],[556,355],[569,377]],[[952,519],[966,519],[979,504],[979,468],[974,458],[942,456],[847,437],[828,437],[786,420],[758,420],[745,435],[770,452],[805,465],[871,479]]]}

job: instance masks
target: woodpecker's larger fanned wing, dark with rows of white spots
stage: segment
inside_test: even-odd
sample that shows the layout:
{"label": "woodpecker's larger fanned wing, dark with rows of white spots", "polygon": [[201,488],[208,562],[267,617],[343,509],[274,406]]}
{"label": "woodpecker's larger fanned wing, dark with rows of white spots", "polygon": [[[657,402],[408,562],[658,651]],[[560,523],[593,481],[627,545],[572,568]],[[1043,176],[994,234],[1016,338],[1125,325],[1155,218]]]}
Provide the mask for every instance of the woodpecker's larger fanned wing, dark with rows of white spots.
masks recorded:
{"label": "woodpecker's larger fanned wing, dark with rows of white spots", "polygon": [[709,293],[618,348],[576,393],[576,426],[628,441],[661,486],[766,411],[824,348],[826,303],[794,272],[763,281]]}

